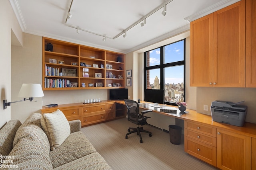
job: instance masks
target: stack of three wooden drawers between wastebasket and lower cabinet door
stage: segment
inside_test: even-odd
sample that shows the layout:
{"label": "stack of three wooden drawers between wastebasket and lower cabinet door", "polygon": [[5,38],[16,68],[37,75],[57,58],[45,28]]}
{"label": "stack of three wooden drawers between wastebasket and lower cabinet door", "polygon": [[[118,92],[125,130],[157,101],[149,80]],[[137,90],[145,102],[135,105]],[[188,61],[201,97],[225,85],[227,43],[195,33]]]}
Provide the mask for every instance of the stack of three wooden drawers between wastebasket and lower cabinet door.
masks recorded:
{"label": "stack of three wooden drawers between wastebasket and lower cabinet door", "polygon": [[216,166],[216,128],[184,121],[184,150]]}

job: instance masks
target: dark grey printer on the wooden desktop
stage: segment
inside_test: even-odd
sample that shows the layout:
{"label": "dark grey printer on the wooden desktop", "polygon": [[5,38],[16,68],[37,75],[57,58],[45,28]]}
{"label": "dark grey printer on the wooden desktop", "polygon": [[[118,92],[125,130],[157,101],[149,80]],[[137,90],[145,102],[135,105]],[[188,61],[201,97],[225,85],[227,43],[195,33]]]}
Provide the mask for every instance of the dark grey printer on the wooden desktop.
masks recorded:
{"label": "dark grey printer on the wooden desktop", "polygon": [[238,105],[242,102],[232,103],[219,100],[212,102],[212,121],[228,123],[240,127],[244,126],[247,106]]}

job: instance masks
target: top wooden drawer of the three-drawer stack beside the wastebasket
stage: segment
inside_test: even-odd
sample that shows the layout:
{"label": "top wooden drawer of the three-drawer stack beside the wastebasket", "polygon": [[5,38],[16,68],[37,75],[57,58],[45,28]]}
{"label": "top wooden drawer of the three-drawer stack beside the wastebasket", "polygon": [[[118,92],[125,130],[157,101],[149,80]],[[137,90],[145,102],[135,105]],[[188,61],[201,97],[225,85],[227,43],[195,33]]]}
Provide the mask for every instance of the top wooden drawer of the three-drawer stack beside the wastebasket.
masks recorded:
{"label": "top wooden drawer of the three-drawer stack beside the wastebasket", "polygon": [[190,121],[184,121],[184,128],[186,129],[190,129],[192,131],[196,131],[199,133],[203,133],[212,137],[216,137],[216,128],[214,127],[210,127],[207,125],[203,125],[200,123],[194,123],[194,122],[190,122]]}

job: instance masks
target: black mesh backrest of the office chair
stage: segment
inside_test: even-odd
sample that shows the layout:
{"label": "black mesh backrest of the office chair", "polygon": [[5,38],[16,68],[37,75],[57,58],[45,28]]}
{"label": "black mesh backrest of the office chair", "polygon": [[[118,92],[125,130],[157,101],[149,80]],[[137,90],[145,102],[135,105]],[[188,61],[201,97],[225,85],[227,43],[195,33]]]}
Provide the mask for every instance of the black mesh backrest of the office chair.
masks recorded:
{"label": "black mesh backrest of the office chair", "polygon": [[139,119],[139,104],[134,100],[125,99],[124,100],[127,107],[127,117],[128,121],[138,124]]}

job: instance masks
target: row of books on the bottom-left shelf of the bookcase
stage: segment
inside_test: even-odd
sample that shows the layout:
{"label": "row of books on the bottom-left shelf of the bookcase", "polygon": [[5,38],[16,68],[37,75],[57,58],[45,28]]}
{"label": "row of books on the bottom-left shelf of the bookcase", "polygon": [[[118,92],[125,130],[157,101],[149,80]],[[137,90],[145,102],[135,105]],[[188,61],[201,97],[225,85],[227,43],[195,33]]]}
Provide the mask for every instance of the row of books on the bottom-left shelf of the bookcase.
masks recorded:
{"label": "row of books on the bottom-left shelf of the bookcase", "polygon": [[67,79],[52,79],[52,78],[44,78],[44,87],[45,88],[62,88],[62,87],[70,87],[70,80]]}

